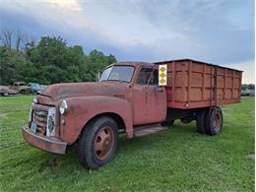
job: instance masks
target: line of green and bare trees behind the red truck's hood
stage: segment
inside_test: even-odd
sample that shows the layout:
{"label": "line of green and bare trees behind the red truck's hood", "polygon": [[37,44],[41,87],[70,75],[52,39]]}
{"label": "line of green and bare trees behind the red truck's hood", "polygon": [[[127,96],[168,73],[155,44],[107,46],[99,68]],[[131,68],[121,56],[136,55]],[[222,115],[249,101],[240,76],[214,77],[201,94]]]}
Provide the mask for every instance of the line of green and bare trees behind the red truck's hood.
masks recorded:
{"label": "line of green and bare trees behind the red truck's hood", "polygon": [[0,33],[1,85],[96,81],[97,72],[114,62],[112,54],[96,49],[86,54],[82,46],[69,46],[61,36],[41,36],[35,42],[19,30]]}

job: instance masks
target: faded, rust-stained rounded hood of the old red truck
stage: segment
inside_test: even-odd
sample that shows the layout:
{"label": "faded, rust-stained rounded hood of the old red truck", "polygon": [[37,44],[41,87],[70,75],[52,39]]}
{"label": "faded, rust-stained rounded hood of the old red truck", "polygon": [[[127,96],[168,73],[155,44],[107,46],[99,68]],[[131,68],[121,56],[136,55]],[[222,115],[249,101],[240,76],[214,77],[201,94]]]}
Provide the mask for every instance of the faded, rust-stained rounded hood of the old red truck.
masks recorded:
{"label": "faded, rust-stained rounded hood of the old red truck", "polygon": [[54,100],[69,96],[125,96],[126,84],[119,82],[67,83],[47,86],[42,96]]}

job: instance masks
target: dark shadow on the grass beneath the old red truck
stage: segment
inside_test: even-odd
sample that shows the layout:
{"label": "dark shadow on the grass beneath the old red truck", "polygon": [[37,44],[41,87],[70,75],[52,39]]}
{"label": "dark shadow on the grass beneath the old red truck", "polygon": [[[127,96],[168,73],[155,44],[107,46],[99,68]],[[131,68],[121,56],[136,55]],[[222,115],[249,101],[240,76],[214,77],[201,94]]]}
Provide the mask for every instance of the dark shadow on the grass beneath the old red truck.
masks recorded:
{"label": "dark shadow on the grass beneath the old red truck", "polygon": [[[194,123],[191,124],[181,124],[177,122],[174,126],[168,127],[167,130],[148,135],[145,137],[133,138],[131,140],[127,139],[125,134],[119,136],[119,145],[117,156],[115,160],[112,160],[112,168],[115,169],[119,166],[119,161],[130,159],[129,157],[134,156],[134,159],[140,160],[140,155],[147,151],[159,149],[163,145],[179,145],[180,141],[186,140],[188,137],[194,140],[195,137],[198,139],[200,137],[205,138],[206,136],[197,133]],[[200,141],[200,139],[199,139]],[[37,171],[42,173],[44,171],[50,171],[53,174],[60,174],[61,172],[76,172],[83,171],[84,173],[90,173],[91,170],[85,168],[78,159],[78,143],[72,146],[68,146],[66,150],[66,155],[55,155],[47,152],[38,151],[35,155],[35,159],[38,156],[41,158],[38,160]],[[136,158],[137,157],[137,158]],[[116,162],[116,160],[118,162]],[[118,165],[119,164],[119,165]]]}

